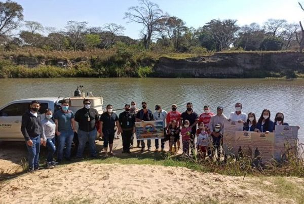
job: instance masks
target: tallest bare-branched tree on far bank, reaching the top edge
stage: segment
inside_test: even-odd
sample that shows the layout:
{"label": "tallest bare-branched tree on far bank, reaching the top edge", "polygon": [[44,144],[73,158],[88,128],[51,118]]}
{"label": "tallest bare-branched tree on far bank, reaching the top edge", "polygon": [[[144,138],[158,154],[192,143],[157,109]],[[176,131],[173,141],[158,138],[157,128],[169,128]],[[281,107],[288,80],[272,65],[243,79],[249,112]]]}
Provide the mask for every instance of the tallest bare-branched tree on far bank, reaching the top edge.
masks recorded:
{"label": "tallest bare-branched tree on far bank, reaching the top edge", "polygon": [[143,43],[145,49],[149,49],[151,37],[156,31],[156,24],[159,19],[165,17],[159,5],[148,0],[139,0],[141,5],[130,7],[128,12],[125,13],[124,19],[129,19],[130,22],[140,23],[144,26]]}

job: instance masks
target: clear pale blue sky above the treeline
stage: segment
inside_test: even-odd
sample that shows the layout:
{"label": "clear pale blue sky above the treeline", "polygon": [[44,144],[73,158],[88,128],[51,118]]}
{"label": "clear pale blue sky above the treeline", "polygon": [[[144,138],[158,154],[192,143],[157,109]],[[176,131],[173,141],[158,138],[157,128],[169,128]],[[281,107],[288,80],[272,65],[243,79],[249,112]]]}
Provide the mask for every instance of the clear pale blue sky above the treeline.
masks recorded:
{"label": "clear pale blue sky above the treeline", "polygon": [[[67,21],[87,21],[90,27],[105,23],[125,26],[124,35],[139,38],[142,25],[127,23],[125,12],[137,6],[137,0],[13,0],[23,7],[24,20],[43,26],[64,29]],[[297,2],[303,0],[152,0],[170,16],[182,19],[188,27],[198,28],[212,19],[236,19],[238,25],[256,22],[262,25],[270,18],[289,23],[304,20]]]}

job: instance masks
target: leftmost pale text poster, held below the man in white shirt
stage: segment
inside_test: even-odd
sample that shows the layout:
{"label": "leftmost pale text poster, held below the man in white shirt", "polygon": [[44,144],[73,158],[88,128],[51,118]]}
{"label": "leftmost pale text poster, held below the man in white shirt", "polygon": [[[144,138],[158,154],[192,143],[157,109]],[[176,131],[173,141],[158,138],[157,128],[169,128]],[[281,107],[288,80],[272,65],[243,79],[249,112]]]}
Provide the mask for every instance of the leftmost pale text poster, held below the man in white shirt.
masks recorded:
{"label": "leftmost pale text poster, held below the man in white shirt", "polygon": [[235,149],[236,131],[242,130],[243,123],[228,120],[224,122],[223,150],[225,154],[235,154],[237,152]]}

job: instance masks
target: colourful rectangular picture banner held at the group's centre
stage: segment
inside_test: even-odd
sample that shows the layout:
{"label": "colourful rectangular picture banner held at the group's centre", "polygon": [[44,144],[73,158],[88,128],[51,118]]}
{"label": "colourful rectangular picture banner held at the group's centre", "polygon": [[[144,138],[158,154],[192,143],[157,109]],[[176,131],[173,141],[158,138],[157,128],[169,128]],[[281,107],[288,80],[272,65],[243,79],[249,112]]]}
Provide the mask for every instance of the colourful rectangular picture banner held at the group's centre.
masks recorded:
{"label": "colourful rectangular picture banner held at the group's centre", "polygon": [[135,131],[137,140],[165,138],[163,120],[136,122]]}

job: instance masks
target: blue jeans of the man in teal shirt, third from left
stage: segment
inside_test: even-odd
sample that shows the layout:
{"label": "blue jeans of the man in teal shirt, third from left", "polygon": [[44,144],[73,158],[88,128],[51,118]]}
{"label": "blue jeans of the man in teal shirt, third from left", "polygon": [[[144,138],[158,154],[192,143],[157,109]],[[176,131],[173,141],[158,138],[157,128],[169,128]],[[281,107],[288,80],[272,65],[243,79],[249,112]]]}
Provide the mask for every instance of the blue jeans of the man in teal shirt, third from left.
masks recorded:
{"label": "blue jeans of the man in teal shirt, third from left", "polygon": [[65,148],[65,155],[64,157],[69,159],[71,156],[71,145],[74,137],[74,132],[70,131],[61,131],[60,135],[58,136],[59,144],[58,144],[58,154],[57,160],[61,161],[63,159],[63,148]]}

